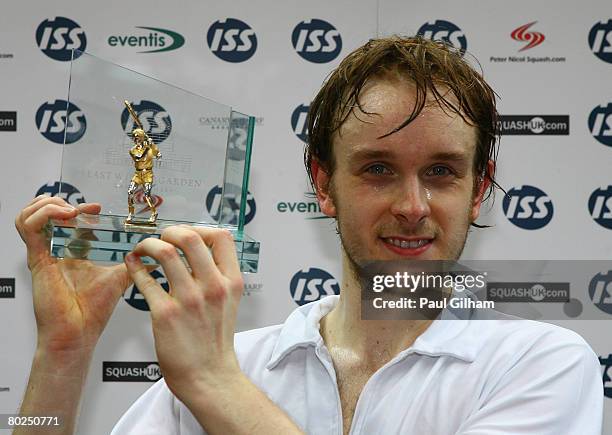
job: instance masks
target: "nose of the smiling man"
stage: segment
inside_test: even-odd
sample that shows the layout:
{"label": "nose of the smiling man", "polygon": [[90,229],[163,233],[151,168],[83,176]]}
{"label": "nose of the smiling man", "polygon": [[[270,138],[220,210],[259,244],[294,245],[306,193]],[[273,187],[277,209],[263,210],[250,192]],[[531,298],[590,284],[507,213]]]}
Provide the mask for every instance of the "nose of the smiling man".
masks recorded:
{"label": "nose of the smiling man", "polygon": [[391,205],[391,213],[407,224],[416,225],[431,214],[431,193],[418,179],[404,182]]}

